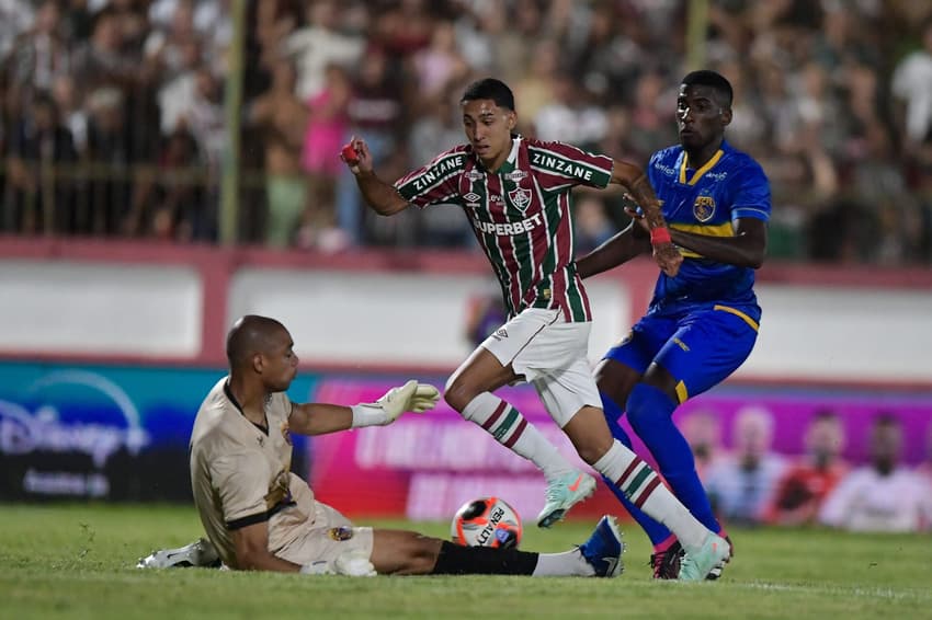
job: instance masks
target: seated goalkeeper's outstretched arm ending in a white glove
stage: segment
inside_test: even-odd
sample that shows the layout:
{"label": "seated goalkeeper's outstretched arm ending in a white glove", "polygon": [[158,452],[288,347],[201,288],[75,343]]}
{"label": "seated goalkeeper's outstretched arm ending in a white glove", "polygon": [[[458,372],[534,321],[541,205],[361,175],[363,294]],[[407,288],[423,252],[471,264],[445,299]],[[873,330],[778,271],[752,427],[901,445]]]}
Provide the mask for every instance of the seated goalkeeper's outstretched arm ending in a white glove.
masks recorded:
{"label": "seated goalkeeper's outstretched arm ending in a white glove", "polygon": [[440,390],[430,383],[419,383],[411,379],[399,388],[391,388],[374,403],[354,406],[294,403],[288,416],[288,428],[299,435],[326,435],[363,426],[385,426],[406,411],[430,411],[439,400]]}

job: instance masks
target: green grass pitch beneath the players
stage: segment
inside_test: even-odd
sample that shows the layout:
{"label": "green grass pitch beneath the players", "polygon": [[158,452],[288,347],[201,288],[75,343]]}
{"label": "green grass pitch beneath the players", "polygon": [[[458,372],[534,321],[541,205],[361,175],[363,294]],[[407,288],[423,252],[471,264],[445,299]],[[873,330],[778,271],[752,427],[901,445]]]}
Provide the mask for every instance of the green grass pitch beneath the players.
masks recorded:
{"label": "green grass pitch beneath the players", "polygon": [[[617,579],[304,576],[139,571],[201,535],[191,507],[0,505],[0,618],[930,618],[932,539],[818,529],[734,530],[718,582],[658,583],[625,524]],[[446,524],[374,521],[446,537]],[[594,524],[528,528],[522,548],[562,551]]]}

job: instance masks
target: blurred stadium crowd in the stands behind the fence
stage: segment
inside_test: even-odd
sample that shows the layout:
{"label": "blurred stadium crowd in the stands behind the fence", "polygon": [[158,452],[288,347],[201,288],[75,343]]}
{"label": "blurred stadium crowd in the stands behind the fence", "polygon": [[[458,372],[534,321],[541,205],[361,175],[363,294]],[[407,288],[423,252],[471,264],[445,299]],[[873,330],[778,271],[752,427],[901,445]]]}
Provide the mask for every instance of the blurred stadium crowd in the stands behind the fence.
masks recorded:
{"label": "blurred stadium crowd in the stands behind the fence", "polygon": [[[229,0],[0,0],[0,231],[213,242]],[[511,84],[526,135],[646,163],[677,139],[683,0],[247,2],[240,241],[473,248],[457,209],[366,213],[337,153],[385,177],[462,141],[456,96]],[[932,263],[932,4],[713,0],[729,140],[773,194],[774,259]],[[577,203],[577,249],[621,226]]]}

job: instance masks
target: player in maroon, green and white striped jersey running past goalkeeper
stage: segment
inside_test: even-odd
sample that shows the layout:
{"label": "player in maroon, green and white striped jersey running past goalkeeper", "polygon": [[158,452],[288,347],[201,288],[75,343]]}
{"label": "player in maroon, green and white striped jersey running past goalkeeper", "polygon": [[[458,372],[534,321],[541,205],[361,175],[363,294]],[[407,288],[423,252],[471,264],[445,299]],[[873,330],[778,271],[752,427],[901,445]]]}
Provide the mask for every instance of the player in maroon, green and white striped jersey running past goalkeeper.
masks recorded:
{"label": "player in maroon, green and white striped jersey running past goalkeeper", "polygon": [[[591,311],[572,250],[570,191],[576,185],[627,188],[653,231],[652,253],[675,276],[682,263],[644,171],[632,163],[513,133],[518,116],[501,81],[470,84],[462,100],[468,143],[440,153],[394,185],[373,171],[364,140],[342,153],[366,203],[389,216],[409,205],[458,204],[501,285],[509,320],[459,366],[446,402],[498,441],[533,461],[547,478],[537,525],[549,527],[588,497],[595,481],[577,471],[521,413],[492,392],[530,381],[579,456],[621,493],[666,523],[691,552],[692,571],[721,553],[714,536],[663,486],[657,474],[612,437],[587,359]],[[685,571],[690,578],[690,571]]]}

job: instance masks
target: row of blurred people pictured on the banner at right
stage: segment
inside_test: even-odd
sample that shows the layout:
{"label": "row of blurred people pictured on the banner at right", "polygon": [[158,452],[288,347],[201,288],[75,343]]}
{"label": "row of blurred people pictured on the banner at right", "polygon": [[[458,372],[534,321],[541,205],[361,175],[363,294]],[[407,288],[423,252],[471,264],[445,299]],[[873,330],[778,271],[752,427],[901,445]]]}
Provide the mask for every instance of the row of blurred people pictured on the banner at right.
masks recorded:
{"label": "row of blurred people pictured on the banner at right", "polygon": [[738,411],[730,449],[721,444],[719,415],[698,410],[684,422],[703,486],[719,519],[729,525],[823,525],[851,531],[932,530],[932,425],[925,453],[913,467],[902,459],[902,422],[878,412],[863,437],[864,462],[843,451],[851,421],[817,411],[803,440],[805,452],[772,447],[776,420],[765,407]]}

